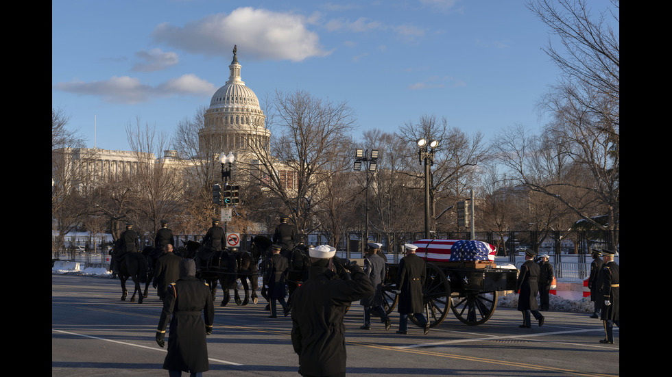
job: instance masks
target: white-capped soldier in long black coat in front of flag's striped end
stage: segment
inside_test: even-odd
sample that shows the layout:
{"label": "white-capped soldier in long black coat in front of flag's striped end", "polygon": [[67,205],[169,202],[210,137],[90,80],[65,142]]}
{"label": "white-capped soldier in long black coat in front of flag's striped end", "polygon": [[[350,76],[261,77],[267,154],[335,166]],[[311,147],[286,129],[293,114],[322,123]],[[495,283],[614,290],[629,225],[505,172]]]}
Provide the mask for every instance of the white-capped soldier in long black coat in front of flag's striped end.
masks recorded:
{"label": "white-capped soldier in long black coat in front of flag's striped end", "polygon": [[404,245],[406,256],[399,261],[399,271],[396,281],[397,294],[399,296],[399,330],[397,334],[408,333],[408,315],[413,314],[420,326],[424,328],[424,334],[429,333],[429,320],[424,317],[424,300],[422,298],[422,286],[427,276],[427,264],[416,255],[418,246],[413,244]]}

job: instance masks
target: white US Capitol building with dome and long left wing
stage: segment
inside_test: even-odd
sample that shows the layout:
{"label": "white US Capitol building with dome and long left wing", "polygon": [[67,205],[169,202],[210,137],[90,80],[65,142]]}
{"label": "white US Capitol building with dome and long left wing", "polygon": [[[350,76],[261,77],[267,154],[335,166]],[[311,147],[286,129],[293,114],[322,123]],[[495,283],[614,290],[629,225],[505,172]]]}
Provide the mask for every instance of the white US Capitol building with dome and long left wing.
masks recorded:
{"label": "white US Capitol building with dome and long left wing", "polygon": [[[270,131],[265,125],[265,115],[256,94],[245,86],[241,79],[241,64],[238,62],[237,47],[233,49],[233,60],[229,65],[228,81],[213,94],[210,106],[204,114],[204,125],[198,133],[199,157],[212,159],[221,152],[231,152],[236,161],[254,164],[254,149],[267,151]],[[53,151],[52,151],[53,152]],[[100,148],[68,148],[52,153],[60,154],[68,160],[64,166],[77,161],[84,164],[85,174],[93,179],[110,179],[120,174],[133,176],[139,168],[139,159],[164,162],[170,166],[184,166],[177,151],[164,151],[163,157],[154,153],[132,151],[112,151]],[[52,165],[54,165],[52,163]],[[58,165],[58,164],[56,164]],[[284,172],[289,176],[289,172]],[[289,179],[287,184],[292,185]]]}

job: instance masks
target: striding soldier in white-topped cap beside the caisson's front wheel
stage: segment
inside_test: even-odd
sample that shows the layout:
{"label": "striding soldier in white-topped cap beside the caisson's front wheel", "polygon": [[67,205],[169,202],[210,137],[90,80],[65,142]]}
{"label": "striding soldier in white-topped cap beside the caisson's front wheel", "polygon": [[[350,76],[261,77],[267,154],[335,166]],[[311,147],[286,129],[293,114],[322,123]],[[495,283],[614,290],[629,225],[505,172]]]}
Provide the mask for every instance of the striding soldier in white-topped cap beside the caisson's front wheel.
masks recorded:
{"label": "striding soldier in white-topped cap beside the caisson's front wheel", "polygon": [[385,280],[385,260],[378,255],[381,244],[369,242],[366,256],[364,257],[364,273],[369,276],[376,292],[369,297],[363,298],[359,303],[364,307],[364,324],[362,330],[371,329],[371,312],[375,311],[385,324],[385,330],[389,330],[392,322],[383,309],[383,281]]}

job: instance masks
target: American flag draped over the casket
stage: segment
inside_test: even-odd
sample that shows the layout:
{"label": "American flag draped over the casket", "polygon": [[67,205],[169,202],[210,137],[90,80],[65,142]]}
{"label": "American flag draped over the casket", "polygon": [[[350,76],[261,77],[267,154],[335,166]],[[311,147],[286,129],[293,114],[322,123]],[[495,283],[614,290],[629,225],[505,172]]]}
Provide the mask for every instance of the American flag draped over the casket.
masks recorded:
{"label": "American flag draped over the casket", "polygon": [[496,248],[483,241],[464,239],[420,239],[416,255],[428,262],[494,261]]}

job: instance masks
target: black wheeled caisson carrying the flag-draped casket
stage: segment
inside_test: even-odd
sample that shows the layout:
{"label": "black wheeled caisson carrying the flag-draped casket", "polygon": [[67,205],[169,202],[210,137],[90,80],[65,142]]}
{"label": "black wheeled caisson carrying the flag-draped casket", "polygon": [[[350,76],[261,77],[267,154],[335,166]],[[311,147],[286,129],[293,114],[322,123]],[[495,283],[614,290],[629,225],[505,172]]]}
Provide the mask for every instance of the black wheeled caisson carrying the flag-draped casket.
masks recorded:
{"label": "black wheeled caisson carrying the flag-draped casket", "polygon": [[[494,246],[481,241],[455,239],[420,239],[416,255],[427,263],[422,288],[430,326],[440,324],[449,310],[460,322],[478,325],[487,322],[497,307],[503,291],[516,289],[516,268],[499,268],[494,264]],[[398,302],[396,278],[398,264],[387,263],[383,297],[387,313]],[[413,323],[416,319],[409,315]]]}

